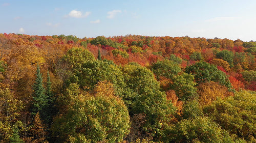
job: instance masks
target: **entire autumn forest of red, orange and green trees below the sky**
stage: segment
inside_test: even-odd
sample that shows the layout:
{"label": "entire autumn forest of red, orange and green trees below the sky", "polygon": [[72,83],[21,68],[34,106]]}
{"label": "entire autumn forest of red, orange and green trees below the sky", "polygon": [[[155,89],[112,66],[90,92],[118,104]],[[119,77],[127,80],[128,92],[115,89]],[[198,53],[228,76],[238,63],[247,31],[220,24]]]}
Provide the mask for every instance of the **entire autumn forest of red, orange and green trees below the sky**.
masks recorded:
{"label": "entire autumn forest of red, orange and green trees below the sky", "polygon": [[256,142],[256,42],[0,34],[0,142]]}

